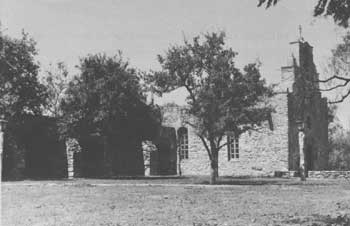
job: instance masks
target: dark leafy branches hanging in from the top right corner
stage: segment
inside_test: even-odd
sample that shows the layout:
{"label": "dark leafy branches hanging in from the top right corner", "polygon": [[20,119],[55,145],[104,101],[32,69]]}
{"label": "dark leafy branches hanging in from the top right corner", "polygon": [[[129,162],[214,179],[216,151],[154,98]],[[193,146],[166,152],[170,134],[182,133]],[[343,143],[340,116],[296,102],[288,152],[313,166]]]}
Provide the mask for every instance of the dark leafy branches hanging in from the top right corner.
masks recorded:
{"label": "dark leafy branches hanging in from the top right corner", "polygon": [[[258,6],[270,8],[280,0],[259,0]],[[308,1],[308,0],[306,0]],[[331,16],[339,26],[347,28],[350,18],[350,0],[318,0],[314,7],[314,16]]]}

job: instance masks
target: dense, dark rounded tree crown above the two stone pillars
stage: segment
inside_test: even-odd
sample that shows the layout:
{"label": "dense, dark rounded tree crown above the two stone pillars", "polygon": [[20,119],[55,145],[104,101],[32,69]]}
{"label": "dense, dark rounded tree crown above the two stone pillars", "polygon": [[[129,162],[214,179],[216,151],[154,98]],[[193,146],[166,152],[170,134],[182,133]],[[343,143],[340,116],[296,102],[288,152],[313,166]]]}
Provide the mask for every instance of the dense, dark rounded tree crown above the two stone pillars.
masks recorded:
{"label": "dense, dark rounded tree crown above the two stone pillars", "polygon": [[157,108],[146,104],[139,75],[121,54],[88,55],[80,60],[79,69],[61,105],[63,134],[146,139],[154,133]]}

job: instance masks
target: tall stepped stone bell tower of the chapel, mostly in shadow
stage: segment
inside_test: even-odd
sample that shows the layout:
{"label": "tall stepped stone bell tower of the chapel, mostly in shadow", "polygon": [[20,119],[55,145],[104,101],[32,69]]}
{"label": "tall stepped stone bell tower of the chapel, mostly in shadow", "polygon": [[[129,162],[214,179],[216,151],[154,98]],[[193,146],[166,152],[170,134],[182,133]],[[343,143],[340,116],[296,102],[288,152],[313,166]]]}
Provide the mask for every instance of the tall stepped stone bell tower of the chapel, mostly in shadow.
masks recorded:
{"label": "tall stepped stone bell tower of the chapel, mostly in shadow", "polygon": [[288,96],[289,170],[298,170],[300,162],[304,162],[306,171],[324,170],[329,151],[328,107],[327,99],[319,91],[313,47],[303,38],[290,44],[290,60],[281,69],[280,85],[280,90]]}

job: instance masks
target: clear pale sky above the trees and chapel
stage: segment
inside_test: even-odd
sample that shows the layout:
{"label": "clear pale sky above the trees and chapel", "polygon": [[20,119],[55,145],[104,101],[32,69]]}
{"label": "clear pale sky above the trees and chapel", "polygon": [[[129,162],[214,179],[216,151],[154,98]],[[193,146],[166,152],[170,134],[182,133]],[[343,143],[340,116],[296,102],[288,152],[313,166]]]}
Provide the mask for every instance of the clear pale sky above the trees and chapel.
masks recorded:
{"label": "clear pale sky above the trees and chapel", "polygon": [[[170,45],[223,30],[227,45],[239,53],[238,66],[259,59],[263,76],[278,82],[299,25],[314,46],[321,75],[341,40],[341,29],[330,19],[312,17],[315,1],[283,0],[265,10],[256,7],[258,0],[0,0],[0,18],[5,34],[18,37],[24,29],[37,41],[44,69],[64,61],[75,73],[79,57],[120,49],[133,66],[155,70],[157,54]],[[349,100],[338,116],[349,127]]]}

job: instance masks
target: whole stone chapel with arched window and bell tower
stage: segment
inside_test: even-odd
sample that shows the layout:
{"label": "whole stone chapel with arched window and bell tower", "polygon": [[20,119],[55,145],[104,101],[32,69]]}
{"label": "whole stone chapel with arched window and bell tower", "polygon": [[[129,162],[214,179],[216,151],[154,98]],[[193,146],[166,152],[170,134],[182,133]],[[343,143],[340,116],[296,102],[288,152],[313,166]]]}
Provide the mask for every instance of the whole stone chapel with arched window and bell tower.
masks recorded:
{"label": "whole stone chapel with arched window and bell tower", "polygon": [[[228,133],[231,144],[219,152],[220,176],[274,176],[297,171],[300,156],[307,171],[327,169],[328,107],[319,91],[313,48],[302,39],[292,42],[291,48],[288,65],[281,67],[276,95],[270,99],[274,113],[259,132],[249,131],[239,137]],[[162,103],[163,127],[155,142],[158,153],[151,153],[146,164],[151,175],[210,172],[201,140],[182,121],[188,117],[184,107],[185,103],[171,100]]]}

